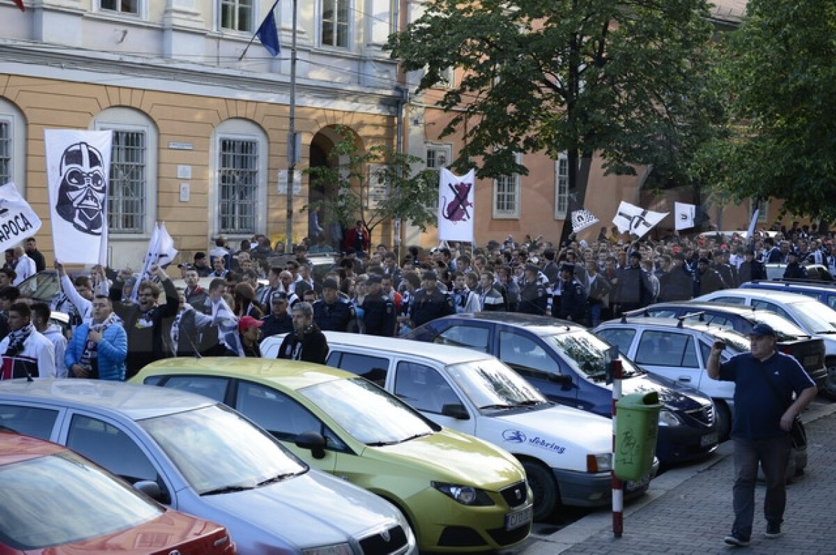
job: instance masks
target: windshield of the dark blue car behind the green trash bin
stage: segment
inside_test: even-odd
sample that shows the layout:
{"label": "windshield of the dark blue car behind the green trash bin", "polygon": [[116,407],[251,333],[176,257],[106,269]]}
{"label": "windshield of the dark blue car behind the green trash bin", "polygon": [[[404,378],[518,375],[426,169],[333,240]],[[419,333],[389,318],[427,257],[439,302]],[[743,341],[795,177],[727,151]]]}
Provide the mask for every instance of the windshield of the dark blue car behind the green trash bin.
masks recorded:
{"label": "windshield of the dark blue car behind the green trash bin", "polygon": [[[608,352],[613,346],[585,329],[574,329],[565,334],[544,335],[543,340],[551,345],[576,372],[594,381],[604,381],[607,376]],[[617,352],[617,351],[616,351]],[[619,355],[624,378],[638,376],[644,372],[630,359]]]}

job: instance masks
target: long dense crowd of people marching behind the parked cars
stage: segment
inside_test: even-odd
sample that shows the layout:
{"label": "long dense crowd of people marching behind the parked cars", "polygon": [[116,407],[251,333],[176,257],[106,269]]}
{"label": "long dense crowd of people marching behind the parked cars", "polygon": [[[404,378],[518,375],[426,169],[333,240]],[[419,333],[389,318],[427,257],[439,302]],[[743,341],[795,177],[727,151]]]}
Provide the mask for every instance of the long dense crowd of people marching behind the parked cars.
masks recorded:
{"label": "long dense crowd of people marching behind the parked cars", "polygon": [[[343,252],[319,240],[284,252],[263,235],[237,249],[217,237],[208,252],[169,267],[152,267],[137,283],[129,268],[94,267],[69,277],[55,262],[61,288],[51,303],[17,288],[18,269],[44,267],[34,238],[7,252],[0,268],[0,379],[68,377],[128,379],[166,357],[261,356],[260,341],[287,334],[279,357],[324,363],[323,331],[399,336],[456,313],[507,311],[595,326],[656,301],[686,300],[765,278],[764,264],[786,262],[785,276],[803,277],[803,262],[836,273],[830,233],[797,227],[751,241],[670,236],[632,241],[602,228],[595,242],[558,247],[543,237],[431,250],[385,244],[373,249],[358,225]],[[330,252],[334,266],[314,273],[311,258]],[[277,261],[281,261],[278,263]],[[207,279],[209,278],[209,279]],[[66,313],[69,331],[50,323]]]}

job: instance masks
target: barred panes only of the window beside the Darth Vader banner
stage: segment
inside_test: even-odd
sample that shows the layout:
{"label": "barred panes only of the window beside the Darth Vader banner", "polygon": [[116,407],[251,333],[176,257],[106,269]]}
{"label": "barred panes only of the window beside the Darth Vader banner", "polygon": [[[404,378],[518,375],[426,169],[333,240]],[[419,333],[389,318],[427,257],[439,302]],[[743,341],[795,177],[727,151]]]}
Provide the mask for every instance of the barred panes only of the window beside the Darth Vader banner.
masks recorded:
{"label": "barred panes only of the window beside the Darth Vader banner", "polygon": [[146,156],[145,131],[113,131],[108,198],[108,225],[111,233],[145,231]]}

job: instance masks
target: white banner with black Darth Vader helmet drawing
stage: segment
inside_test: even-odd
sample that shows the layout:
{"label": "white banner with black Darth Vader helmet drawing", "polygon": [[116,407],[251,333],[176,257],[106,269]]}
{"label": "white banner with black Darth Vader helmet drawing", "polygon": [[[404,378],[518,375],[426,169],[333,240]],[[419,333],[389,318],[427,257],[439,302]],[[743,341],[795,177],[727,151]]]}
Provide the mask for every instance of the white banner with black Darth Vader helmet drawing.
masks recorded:
{"label": "white banner with black Darth Vader helmet drawing", "polygon": [[112,131],[45,130],[55,258],[107,263]]}

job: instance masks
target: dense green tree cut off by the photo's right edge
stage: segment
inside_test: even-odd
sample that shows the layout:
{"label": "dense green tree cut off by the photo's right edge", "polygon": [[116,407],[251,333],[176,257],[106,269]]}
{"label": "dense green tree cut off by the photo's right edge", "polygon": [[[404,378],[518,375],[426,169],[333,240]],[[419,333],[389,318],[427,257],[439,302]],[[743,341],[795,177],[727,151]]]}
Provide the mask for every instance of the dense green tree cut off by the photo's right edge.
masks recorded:
{"label": "dense green tree cut off by the photo's right edge", "polygon": [[733,125],[701,157],[730,200],[836,219],[836,3],[750,0],[724,63]]}

